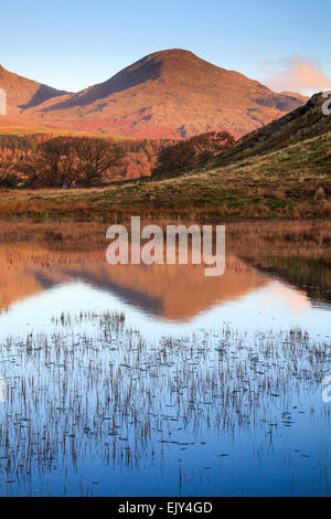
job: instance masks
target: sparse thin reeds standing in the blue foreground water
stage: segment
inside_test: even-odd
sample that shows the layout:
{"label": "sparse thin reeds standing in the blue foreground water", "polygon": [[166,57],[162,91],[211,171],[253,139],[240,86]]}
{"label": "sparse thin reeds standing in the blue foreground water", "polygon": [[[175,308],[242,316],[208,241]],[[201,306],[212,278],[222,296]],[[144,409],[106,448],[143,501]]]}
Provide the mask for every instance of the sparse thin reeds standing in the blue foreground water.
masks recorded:
{"label": "sparse thin reeds standing in the blue foreground water", "polygon": [[[85,310],[54,316],[51,327],[0,345],[1,495],[31,495],[53,473],[65,494],[87,458],[135,470],[161,464],[169,448],[180,457],[209,431],[263,433],[263,458],[296,423],[293,402],[314,395],[330,372],[331,341],[301,329],[248,337],[223,324],[153,343],[121,313]],[[329,406],[317,402],[310,413],[328,421]],[[87,480],[82,495],[90,494]]]}

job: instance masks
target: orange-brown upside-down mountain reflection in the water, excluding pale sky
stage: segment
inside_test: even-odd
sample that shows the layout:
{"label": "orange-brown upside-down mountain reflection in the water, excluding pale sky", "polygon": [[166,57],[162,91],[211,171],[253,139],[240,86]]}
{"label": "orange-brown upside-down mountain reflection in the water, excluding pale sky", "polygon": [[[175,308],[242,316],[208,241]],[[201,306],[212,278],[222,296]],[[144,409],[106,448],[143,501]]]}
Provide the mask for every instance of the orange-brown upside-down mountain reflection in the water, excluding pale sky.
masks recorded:
{"label": "orange-brown upside-down mountain reflection in the water, excluding pale sky", "polygon": [[[106,263],[105,250],[52,252],[43,248],[0,248],[0,307],[47,292],[55,286],[84,282],[151,316],[186,321],[228,301],[239,301],[263,287],[292,301],[297,311],[311,304],[330,303],[331,269],[305,258],[258,262],[226,256],[225,274],[205,277],[202,265],[116,265]],[[274,284],[274,279],[279,283]]]}

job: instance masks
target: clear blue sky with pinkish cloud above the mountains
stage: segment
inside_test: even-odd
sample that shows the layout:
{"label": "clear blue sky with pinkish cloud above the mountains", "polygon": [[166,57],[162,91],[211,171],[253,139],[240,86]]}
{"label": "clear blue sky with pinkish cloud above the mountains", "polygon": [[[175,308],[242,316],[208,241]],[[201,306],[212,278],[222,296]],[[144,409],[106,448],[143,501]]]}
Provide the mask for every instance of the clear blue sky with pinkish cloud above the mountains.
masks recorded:
{"label": "clear blue sky with pinkish cloud above the mountains", "polygon": [[0,63],[57,88],[173,47],[278,91],[331,86],[330,0],[15,0],[0,19]]}

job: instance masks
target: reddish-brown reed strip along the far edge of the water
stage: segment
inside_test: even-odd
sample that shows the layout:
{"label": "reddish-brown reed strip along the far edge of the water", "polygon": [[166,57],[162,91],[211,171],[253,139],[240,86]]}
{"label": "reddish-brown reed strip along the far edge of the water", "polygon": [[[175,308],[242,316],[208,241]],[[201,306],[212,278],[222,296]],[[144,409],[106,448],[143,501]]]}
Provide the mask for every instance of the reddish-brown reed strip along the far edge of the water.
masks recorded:
{"label": "reddish-brown reed strip along the far edge of the water", "polygon": [[[119,222],[130,227],[130,216]],[[175,222],[171,219],[142,220],[141,225],[158,223],[163,230],[168,224],[185,223],[190,225],[199,221],[189,220]],[[209,224],[225,223],[211,219]],[[14,245],[25,247],[33,245],[39,250],[47,251],[86,251],[97,247],[106,247],[106,231],[113,224],[109,219],[106,223],[99,222],[53,222],[53,223],[4,223],[0,226],[1,246]],[[238,255],[253,255],[261,253],[268,255],[301,257],[323,257],[331,260],[331,222],[330,221],[287,221],[287,222],[227,222],[226,224],[226,246]]]}

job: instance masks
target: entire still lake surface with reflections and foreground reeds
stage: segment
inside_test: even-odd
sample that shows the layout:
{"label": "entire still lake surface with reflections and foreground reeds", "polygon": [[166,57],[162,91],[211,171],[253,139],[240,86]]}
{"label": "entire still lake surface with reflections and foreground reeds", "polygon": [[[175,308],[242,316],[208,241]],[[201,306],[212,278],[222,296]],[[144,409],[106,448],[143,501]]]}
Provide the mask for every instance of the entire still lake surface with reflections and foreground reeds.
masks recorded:
{"label": "entire still lake surface with reflections and foreground reeds", "polygon": [[207,278],[2,225],[1,496],[330,494],[331,225],[226,232]]}

